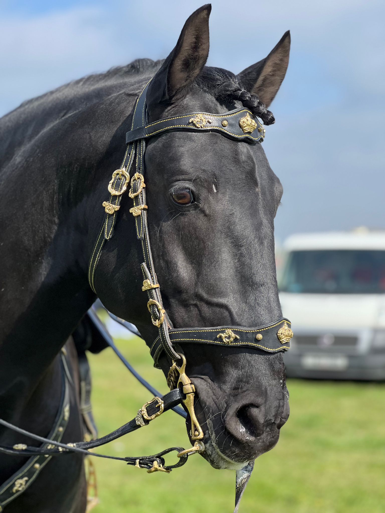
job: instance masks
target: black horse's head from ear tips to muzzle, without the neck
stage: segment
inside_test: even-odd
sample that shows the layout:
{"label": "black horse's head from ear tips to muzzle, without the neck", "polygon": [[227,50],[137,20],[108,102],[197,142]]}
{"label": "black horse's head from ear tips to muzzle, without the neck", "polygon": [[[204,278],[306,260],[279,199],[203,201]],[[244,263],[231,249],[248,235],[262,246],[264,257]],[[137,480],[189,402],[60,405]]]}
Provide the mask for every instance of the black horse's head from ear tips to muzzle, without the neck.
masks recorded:
{"label": "black horse's head from ear tips to muzzle, without the neck", "polygon": [[[209,14],[210,6],[203,6],[187,19],[146,92],[147,124],[172,119],[178,127],[184,113],[195,112],[186,120],[195,132],[152,133],[145,152],[142,147],[132,157],[132,166],[138,172],[143,164],[146,170],[148,209],[143,215],[156,270],[152,278],[160,285],[169,326],[182,335],[189,328],[203,332],[218,327],[211,330],[208,344],[191,332],[177,339],[196,387],[203,456],[216,468],[238,469],[277,443],[289,412],[280,344],[290,339],[290,327],[284,321],[274,324],[282,315],[274,254],[282,186],[261,145],[265,129],[255,120],[274,123],[267,107],[286,72],[290,34],[262,61],[235,75],[205,66]],[[234,116],[241,135],[232,136],[228,129],[233,111],[239,112]],[[227,119],[224,112],[230,112]],[[215,123],[217,130],[204,131]],[[229,137],[220,133],[221,127]],[[254,132],[255,144],[236,139]],[[138,163],[142,157],[144,162]],[[137,243],[134,223],[145,207],[130,207],[127,194],[119,212],[106,206],[117,220],[114,236],[100,254],[94,284],[104,305],[136,324],[151,347],[158,330],[142,292],[146,248],[143,240],[143,248]],[[152,283],[151,277],[144,278]],[[262,328],[250,339],[255,326]],[[264,346],[268,336],[263,330],[273,328],[276,346]],[[282,340],[278,329],[286,330]],[[156,361],[167,377],[170,356],[160,351]]]}

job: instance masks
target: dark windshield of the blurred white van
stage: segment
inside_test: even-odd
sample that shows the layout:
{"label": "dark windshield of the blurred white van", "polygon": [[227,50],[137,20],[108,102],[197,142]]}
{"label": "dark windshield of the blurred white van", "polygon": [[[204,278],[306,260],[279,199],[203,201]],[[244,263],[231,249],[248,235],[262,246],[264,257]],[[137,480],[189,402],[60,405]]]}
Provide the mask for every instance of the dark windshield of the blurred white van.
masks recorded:
{"label": "dark windshield of the blurred white van", "polygon": [[302,293],[383,293],[385,251],[292,251],[279,289]]}

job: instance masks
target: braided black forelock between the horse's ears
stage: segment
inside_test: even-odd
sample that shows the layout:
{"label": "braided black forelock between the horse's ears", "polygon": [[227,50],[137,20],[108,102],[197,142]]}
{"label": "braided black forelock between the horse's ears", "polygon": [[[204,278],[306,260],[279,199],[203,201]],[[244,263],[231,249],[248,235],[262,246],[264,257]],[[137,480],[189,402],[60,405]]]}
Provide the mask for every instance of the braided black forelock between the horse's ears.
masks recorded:
{"label": "braided black forelock between the horse's ears", "polygon": [[246,91],[237,75],[221,68],[205,67],[198,77],[199,85],[213,94],[218,101],[240,101],[244,107],[258,116],[264,125],[275,122],[274,115],[267,110],[258,96]]}

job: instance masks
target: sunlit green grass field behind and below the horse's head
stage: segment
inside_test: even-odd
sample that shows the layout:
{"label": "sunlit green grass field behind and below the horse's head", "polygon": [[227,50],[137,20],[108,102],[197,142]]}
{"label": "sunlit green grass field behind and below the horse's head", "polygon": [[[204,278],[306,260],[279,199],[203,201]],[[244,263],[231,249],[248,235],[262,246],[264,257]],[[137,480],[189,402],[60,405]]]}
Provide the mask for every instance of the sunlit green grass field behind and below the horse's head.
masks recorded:
{"label": "sunlit green grass field behind and below the horse's head", "polygon": [[[143,341],[118,345],[153,386],[167,391]],[[133,418],[151,397],[111,349],[90,361],[93,411],[102,436]],[[385,385],[290,380],[288,389],[290,419],[278,445],[257,460],[240,512],[383,513]],[[175,445],[189,442],[183,419],[169,411],[103,450],[136,456]],[[94,513],[233,511],[235,472],[215,470],[198,455],[170,474],[93,461],[100,497]]]}

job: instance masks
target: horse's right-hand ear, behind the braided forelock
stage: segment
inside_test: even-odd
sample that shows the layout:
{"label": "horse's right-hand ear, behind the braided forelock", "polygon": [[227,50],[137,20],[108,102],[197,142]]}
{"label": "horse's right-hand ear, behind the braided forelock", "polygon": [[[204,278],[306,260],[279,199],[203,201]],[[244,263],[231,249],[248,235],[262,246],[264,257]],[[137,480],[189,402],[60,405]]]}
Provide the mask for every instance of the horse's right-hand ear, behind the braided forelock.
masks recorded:
{"label": "horse's right-hand ear, behind the braided forelock", "polygon": [[268,107],[274,100],[285,77],[290,53],[290,31],[262,61],[249,66],[238,77],[248,92],[256,94]]}

